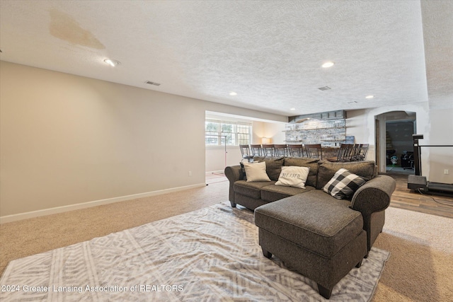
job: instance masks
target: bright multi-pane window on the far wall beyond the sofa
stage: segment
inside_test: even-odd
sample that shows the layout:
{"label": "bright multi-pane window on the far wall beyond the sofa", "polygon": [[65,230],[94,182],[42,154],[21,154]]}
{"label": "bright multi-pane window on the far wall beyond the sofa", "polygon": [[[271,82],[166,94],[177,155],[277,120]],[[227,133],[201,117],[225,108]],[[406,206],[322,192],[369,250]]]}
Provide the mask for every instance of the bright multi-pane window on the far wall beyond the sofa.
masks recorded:
{"label": "bright multi-pane window on the far wall beyond the sofa", "polygon": [[205,121],[206,146],[238,146],[250,144],[251,123],[221,120]]}

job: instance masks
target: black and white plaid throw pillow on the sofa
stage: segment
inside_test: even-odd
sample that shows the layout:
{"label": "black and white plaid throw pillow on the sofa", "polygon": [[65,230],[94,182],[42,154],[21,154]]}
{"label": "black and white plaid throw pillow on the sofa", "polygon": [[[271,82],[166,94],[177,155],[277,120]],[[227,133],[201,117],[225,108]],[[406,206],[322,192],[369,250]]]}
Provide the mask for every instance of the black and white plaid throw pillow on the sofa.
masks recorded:
{"label": "black and white plaid throw pillow on the sofa", "polygon": [[323,191],[331,194],[336,199],[348,199],[364,183],[365,180],[359,175],[352,174],[345,168],[341,168],[323,187]]}

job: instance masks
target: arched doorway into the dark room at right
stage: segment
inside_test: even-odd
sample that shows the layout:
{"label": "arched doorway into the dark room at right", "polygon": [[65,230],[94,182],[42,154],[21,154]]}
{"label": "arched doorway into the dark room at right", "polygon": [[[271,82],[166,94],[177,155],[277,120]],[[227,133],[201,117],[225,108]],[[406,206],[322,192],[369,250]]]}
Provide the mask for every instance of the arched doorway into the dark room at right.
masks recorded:
{"label": "arched doorway into the dark room at right", "polygon": [[376,163],[380,173],[414,174],[413,139],[416,113],[384,112],[375,117]]}

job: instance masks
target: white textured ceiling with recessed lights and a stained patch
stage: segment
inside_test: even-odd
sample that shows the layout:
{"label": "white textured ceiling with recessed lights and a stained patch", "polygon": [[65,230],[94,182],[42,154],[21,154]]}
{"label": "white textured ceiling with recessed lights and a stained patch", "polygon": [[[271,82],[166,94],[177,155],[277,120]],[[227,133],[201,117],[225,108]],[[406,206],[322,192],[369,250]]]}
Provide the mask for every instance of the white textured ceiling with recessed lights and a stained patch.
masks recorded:
{"label": "white textured ceiling with recessed lights and a stained patch", "polygon": [[1,60],[280,115],[445,105],[452,3],[1,0]]}

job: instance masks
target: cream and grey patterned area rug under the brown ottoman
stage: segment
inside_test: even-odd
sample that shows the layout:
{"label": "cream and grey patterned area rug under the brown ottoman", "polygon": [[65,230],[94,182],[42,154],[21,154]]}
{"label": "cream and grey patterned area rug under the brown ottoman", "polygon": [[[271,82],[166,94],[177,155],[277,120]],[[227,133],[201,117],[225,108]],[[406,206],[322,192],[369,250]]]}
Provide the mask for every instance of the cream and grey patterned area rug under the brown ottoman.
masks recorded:
{"label": "cream and grey patterned area rug under the brown ottoman", "polygon": [[[330,301],[369,301],[388,258],[373,248]],[[13,260],[0,285],[1,301],[326,301],[229,203]]]}

